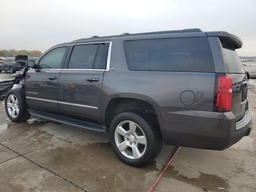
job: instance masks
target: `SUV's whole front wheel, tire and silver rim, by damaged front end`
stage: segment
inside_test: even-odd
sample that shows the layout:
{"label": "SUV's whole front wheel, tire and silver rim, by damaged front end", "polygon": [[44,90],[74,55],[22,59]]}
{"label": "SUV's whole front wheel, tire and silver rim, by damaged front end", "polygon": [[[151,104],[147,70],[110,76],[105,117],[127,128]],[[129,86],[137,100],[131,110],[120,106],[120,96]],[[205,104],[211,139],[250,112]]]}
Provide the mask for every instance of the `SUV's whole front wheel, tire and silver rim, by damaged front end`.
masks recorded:
{"label": "SUV's whole front wheel, tire and silver rim, by damaged front end", "polygon": [[23,89],[11,89],[6,94],[5,110],[13,122],[22,122],[30,118],[26,107],[26,98]]}

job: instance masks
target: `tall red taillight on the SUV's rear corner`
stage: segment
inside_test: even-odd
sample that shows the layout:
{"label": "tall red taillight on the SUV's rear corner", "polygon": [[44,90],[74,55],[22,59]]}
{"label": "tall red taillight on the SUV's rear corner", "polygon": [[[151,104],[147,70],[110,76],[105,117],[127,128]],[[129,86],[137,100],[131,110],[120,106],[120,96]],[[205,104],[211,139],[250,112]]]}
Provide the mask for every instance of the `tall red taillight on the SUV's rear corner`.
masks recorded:
{"label": "tall red taillight on the SUV's rear corner", "polygon": [[219,74],[217,84],[216,108],[219,112],[231,110],[232,78],[230,74]]}

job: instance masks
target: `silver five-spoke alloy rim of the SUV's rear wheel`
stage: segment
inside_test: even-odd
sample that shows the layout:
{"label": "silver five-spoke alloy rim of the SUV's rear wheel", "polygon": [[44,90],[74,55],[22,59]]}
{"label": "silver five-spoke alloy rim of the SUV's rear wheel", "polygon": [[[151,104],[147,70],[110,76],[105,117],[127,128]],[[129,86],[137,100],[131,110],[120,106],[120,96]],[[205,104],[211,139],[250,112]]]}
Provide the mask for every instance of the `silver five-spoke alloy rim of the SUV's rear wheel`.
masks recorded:
{"label": "silver five-spoke alloy rim of the SUV's rear wheel", "polygon": [[132,121],[123,121],[116,127],[115,142],[118,150],[127,158],[138,159],[146,151],[146,136],[138,126]]}

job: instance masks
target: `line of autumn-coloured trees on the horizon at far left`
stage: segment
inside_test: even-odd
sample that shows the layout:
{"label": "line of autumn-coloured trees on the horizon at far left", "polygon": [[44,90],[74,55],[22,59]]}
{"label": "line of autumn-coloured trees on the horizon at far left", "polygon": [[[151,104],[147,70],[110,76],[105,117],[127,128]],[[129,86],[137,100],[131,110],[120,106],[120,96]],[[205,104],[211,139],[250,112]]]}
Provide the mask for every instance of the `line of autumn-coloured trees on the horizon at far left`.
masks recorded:
{"label": "line of autumn-coloured trees on the horizon at far left", "polygon": [[17,55],[27,55],[29,57],[39,57],[42,54],[39,50],[15,50],[15,49],[3,49],[0,50],[0,57],[15,57]]}

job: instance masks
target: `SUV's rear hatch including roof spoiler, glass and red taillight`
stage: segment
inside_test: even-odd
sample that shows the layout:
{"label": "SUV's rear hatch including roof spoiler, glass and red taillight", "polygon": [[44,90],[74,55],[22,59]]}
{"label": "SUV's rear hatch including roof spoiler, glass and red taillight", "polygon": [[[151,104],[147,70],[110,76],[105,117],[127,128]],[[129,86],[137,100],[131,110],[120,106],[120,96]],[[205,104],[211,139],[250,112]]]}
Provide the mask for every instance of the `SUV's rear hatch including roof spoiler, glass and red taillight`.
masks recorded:
{"label": "SUV's rear hatch including roof spoiler, glass and red taillight", "polygon": [[206,32],[207,36],[215,36],[220,40],[225,73],[216,73],[216,111],[232,111],[239,121],[248,108],[247,76],[236,49],[242,48],[242,40],[228,32]]}

